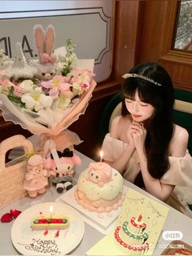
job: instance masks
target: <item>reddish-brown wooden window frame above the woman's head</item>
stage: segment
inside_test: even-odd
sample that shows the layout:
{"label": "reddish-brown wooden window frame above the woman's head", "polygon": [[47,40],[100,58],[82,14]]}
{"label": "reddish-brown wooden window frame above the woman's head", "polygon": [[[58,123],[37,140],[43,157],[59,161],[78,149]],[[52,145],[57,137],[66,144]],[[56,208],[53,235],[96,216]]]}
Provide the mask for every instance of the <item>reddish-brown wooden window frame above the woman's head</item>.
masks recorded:
{"label": "reddish-brown wooden window frame above the woman's head", "polygon": [[172,50],[178,1],[141,1],[142,38],[137,63],[153,61],[162,64],[174,86],[192,90],[192,54]]}

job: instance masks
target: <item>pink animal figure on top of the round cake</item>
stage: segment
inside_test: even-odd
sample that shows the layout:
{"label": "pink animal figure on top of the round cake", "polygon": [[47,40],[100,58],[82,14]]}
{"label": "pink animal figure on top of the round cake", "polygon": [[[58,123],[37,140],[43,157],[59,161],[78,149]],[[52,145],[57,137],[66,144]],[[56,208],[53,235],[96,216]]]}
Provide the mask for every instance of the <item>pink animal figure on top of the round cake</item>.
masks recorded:
{"label": "pink animal figure on top of the round cake", "polygon": [[90,163],[86,180],[98,183],[99,187],[103,187],[104,183],[110,182],[111,176],[111,166],[107,165],[107,163]]}

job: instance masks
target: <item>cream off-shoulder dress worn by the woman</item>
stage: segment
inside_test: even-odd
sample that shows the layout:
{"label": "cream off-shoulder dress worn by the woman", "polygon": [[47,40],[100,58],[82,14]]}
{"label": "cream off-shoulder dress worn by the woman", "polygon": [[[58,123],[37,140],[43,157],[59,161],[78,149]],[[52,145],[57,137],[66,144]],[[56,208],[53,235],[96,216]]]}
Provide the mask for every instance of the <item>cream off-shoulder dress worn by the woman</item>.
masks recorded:
{"label": "cream off-shoulder dress worn by the woman", "polygon": [[[103,140],[103,159],[106,161],[116,160],[124,152],[126,146],[127,144],[120,139],[112,138],[110,134],[107,134]],[[192,211],[187,205],[192,204],[192,157],[190,157],[190,153],[187,151],[185,157],[169,157],[169,161],[170,168],[160,181],[175,185],[176,187],[166,203],[192,218]],[[124,179],[133,183],[139,171],[139,159],[135,151],[123,174]]]}

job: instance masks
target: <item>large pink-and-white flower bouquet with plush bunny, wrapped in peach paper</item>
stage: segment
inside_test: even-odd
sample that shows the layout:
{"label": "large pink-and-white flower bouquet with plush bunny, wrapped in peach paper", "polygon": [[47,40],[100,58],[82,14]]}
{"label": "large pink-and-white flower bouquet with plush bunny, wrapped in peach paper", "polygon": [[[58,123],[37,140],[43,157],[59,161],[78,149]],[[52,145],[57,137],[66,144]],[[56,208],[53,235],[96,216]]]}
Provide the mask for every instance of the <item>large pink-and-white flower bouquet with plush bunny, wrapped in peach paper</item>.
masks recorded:
{"label": "large pink-and-white flower bouquet with plush bunny, wrapped in peach paper", "polygon": [[41,25],[35,26],[34,36],[38,61],[28,60],[20,43],[15,60],[7,60],[0,52],[0,108],[6,121],[40,135],[41,150],[46,154],[81,142],[67,128],[85,113],[96,82],[93,70],[79,65],[72,40],[62,47],[65,55],[56,56],[51,25],[46,33]]}

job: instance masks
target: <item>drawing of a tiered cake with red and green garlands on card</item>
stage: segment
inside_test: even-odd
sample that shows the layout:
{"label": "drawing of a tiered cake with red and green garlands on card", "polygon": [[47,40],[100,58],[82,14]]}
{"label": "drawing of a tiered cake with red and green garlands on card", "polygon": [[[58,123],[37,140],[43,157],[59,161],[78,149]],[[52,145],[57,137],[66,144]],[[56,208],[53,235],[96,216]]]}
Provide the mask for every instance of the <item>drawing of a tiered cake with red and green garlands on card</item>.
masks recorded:
{"label": "drawing of a tiered cake with red and green garlands on card", "polygon": [[137,219],[132,217],[129,222],[124,222],[122,227],[116,227],[115,238],[118,245],[127,252],[144,254],[149,249],[149,244],[146,242],[149,236],[145,230],[146,223],[142,222],[142,215],[139,215]]}

